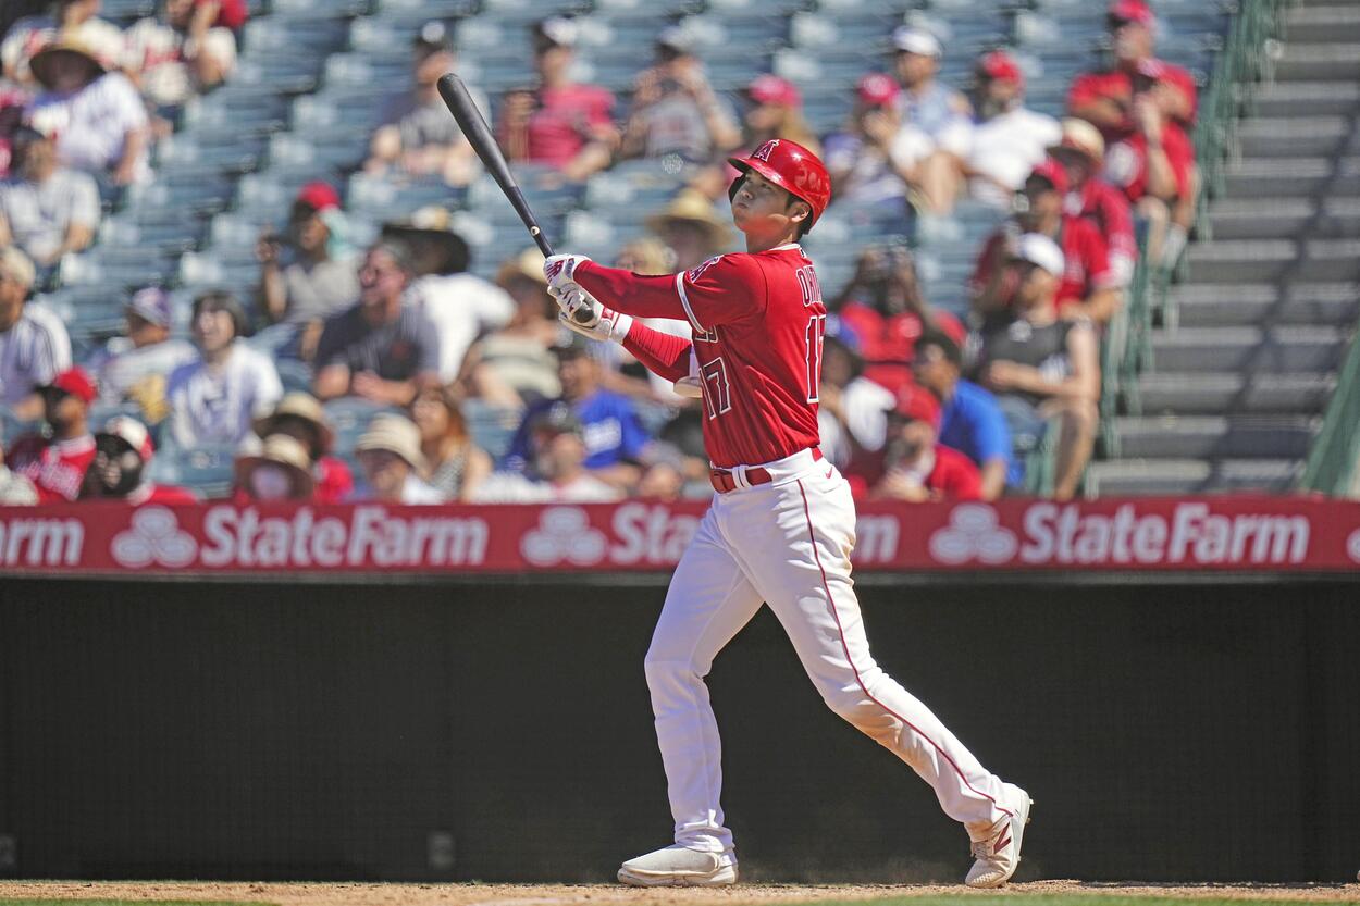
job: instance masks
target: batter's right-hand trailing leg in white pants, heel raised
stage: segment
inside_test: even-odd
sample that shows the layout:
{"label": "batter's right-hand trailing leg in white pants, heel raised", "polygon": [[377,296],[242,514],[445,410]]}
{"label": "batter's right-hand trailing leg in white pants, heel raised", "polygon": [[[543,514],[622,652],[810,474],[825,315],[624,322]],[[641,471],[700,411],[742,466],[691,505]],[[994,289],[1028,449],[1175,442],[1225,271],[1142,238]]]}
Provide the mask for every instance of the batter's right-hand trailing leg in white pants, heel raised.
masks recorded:
{"label": "batter's right-hand trailing leg in white pants, heel raised", "polygon": [[[743,518],[748,529],[737,543],[737,555],[827,705],[930,784],[945,813],[963,823],[971,839],[997,841],[998,830],[1009,827],[1017,812],[1027,818],[1028,796],[986,770],[870,656],[850,581],[854,503],[845,480],[834,469],[828,477],[823,467],[764,492],[753,488],[743,498],[767,516],[763,521],[753,513]],[[762,522],[764,528],[758,528]]]}

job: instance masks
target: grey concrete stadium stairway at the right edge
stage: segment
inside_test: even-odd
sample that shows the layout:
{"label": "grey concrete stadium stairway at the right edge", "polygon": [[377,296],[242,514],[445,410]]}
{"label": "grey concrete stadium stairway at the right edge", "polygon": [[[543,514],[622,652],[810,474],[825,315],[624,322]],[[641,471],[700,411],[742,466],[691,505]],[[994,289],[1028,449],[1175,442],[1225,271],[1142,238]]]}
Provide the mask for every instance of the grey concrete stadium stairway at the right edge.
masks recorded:
{"label": "grey concrete stadium stairway at the right edge", "polygon": [[1253,118],[1190,248],[1118,419],[1121,458],[1087,492],[1295,487],[1360,316],[1360,0],[1289,11],[1274,79],[1247,86]]}

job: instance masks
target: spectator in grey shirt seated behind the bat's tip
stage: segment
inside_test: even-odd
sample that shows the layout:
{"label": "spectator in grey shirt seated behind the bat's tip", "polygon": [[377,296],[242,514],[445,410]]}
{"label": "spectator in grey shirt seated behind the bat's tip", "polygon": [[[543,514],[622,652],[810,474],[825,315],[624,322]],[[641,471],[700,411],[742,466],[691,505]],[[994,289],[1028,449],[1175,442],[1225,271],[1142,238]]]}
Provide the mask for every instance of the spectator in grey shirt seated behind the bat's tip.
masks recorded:
{"label": "spectator in grey shirt seated behind the bat's tip", "polygon": [[[427,22],[411,46],[412,87],[384,105],[385,118],[369,143],[364,170],[435,175],[449,185],[468,185],[481,173],[476,151],[439,98],[439,76],[456,67],[447,27]],[[472,98],[490,122],[486,97],[472,90]]]}

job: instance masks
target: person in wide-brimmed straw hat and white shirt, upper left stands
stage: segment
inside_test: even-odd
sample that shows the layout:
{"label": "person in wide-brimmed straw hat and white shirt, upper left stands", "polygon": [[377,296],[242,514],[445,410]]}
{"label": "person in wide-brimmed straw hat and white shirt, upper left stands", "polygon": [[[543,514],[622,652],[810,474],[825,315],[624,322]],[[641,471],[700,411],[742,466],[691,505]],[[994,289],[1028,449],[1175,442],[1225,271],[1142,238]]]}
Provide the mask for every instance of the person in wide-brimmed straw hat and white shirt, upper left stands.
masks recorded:
{"label": "person in wide-brimmed straw hat and white shirt, upper left stands", "polygon": [[53,136],[57,161],[114,188],[151,175],[147,109],[125,75],[106,72],[95,53],[69,35],[45,46],[29,65],[42,86],[29,120]]}

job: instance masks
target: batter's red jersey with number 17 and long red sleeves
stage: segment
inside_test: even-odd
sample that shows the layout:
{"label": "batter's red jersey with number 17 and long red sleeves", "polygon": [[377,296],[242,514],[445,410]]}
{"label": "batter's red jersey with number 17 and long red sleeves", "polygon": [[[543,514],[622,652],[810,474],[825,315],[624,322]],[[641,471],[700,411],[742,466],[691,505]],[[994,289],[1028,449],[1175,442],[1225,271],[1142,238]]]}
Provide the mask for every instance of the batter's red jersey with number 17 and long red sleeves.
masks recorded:
{"label": "batter's red jersey with number 17 and long red sleeves", "polygon": [[634,324],[624,347],[662,377],[703,382],[703,441],[714,465],[755,465],[813,448],[827,309],[798,245],[721,254],[692,271],[639,276],[594,263],[574,279],[602,303],[685,320],[694,340]]}

